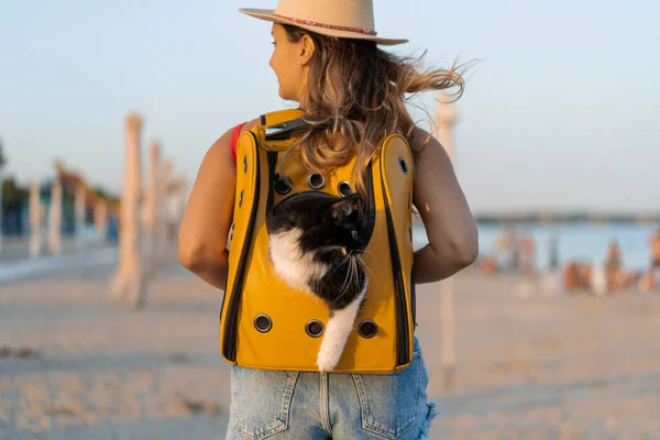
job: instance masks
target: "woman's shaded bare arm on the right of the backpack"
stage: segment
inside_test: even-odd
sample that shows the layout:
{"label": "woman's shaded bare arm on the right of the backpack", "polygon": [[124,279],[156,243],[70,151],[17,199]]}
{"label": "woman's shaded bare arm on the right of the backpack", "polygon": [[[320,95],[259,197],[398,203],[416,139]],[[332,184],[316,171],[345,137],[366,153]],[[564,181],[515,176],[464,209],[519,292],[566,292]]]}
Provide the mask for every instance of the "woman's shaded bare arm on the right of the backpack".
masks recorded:
{"label": "woman's shaded bare arm on the right of the backpack", "polygon": [[433,283],[468,267],[479,254],[477,229],[440,142],[417,129],[414,204],[429,243],[415,252],[415,282]]}

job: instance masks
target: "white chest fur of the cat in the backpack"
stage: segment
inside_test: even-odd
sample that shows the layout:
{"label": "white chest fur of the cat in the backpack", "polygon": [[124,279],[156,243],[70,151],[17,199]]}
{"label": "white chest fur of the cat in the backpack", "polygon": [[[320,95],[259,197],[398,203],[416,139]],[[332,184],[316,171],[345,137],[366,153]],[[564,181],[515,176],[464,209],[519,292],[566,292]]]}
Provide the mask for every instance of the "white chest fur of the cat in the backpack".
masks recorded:
{"label": "white chest fur of the cat in the backpack", "polygon": [[328,267],[315,261],[314,252],[302,252],[302,231],[293,229],[271,234],[271,262],[275,272],[292,287],[310,292],[309,280],[326,275]]}

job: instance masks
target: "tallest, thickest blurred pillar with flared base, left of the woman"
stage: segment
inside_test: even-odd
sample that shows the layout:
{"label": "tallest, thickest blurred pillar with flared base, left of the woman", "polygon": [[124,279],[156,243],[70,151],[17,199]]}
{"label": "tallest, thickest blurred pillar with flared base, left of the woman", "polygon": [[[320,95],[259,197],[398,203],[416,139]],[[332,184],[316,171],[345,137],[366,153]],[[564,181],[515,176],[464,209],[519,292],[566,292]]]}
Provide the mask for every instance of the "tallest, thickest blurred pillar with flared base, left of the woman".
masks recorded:
{"label": "tallest, thickest blurred pillar with flared base, left of the woman", "polygon": [[120,207],[119,262],[111,289],[118,304],[133,309],[146,300],[146,279],[140,257],[138,206],[142,193],[140,136],[142,117],[131,113],[125,121],[124,179]]}

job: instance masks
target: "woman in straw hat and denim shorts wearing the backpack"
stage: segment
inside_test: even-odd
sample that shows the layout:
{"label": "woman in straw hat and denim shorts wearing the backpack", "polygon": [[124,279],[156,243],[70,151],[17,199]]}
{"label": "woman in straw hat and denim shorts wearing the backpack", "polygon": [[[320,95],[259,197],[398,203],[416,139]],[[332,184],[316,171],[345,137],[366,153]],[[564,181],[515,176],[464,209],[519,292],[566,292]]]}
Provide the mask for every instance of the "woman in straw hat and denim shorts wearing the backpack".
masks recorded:
{"label": "woman in straw hat and denim shorts wearing the backpack", "polygon": [[[476,226],[451,162],[438,141],[415,127],[404,100],[404,94],[454,86],[462,92],[457,68],[421,73],[381,51],[378,45],[406,41],[376,36],[371,0],[282,0],[274,11],[241,12],[273,22],[270,65],[279,96],[298,102],[306,116],[338,122],[329,139],[300,145],[307,165],[329,170],[353,155],[358,164],[366,164],[387,133],[406,135],[415,157],[414,204],[429,239],[415,253],[416,282],[437,282],[472,264]],[[210,147],[179,232],[180,262],[220,289],[234,207],[235,139],[258,123],[239,124]],[[287,372],[234,366],[228,438],[425,438],[435,413],[427,402],[428,378],[417,341],[413,363],[416,369],[393,375],[301,372],[293,382]],[[278,396],[271,391],[282,388],[290,391],[286,402],[267,397]]]}

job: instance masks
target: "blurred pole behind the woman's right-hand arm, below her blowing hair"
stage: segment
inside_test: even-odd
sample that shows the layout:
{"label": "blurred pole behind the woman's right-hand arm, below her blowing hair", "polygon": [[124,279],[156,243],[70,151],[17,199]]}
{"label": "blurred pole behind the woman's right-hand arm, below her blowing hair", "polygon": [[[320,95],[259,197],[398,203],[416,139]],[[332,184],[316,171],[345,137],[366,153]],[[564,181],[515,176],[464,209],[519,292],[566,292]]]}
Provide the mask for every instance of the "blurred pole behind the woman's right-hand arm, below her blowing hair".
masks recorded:
{"label": "blurred pole behind the woman's right-hand arm, below her blowing hair", "polygon": [[[438,95],[436,107],[436,139],[454,162],[453,127],[457,121],[454,107],[449,102],[447,95]],[[455,166],[454,166],[455,167]],[[457,355],[454,346],[454,305],[453,305],[453,279],[447,278],[440,283],[440,349],[442,356],[442,369],[444,373],[444,387],[452,389],[455,386]]]}

